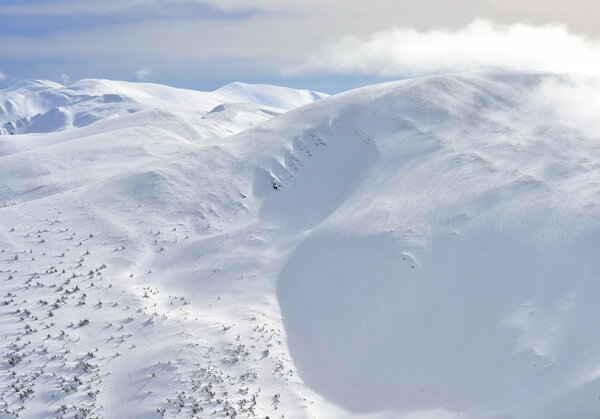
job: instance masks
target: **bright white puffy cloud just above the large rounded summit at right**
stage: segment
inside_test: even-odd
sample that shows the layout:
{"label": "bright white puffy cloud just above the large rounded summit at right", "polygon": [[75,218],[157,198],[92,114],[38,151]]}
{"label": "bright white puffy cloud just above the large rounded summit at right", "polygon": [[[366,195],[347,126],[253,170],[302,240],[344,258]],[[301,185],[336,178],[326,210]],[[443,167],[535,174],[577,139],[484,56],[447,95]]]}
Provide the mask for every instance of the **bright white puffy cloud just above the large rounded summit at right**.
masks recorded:
{"label": "bright white puffy cloud just above the large rounded summit at right", "polygon": [[476,20],[458,30],[392,28],[368,39],[348,36],[287,72],[392,77],[477,68],[600,74],[600,43],[572,34],[562,25],[496,25]]}

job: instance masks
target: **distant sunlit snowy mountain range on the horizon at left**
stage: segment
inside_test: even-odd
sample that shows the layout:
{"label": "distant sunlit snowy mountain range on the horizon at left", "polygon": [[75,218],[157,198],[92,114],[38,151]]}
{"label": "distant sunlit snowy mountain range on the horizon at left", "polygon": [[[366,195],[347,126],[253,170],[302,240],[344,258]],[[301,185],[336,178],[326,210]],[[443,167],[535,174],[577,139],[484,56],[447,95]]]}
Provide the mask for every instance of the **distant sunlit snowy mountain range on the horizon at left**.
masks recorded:
{"label": "distant sunlit snowy mountain range on the horizon at left", "polygon": [[[0,96],[0,134],[56,132],[160,110],[185,126],[192,136],[222,138],[327,95],[244,83],[198,92],[150,83],[87,79],[71,86],[26,81],[1,91]],[[211,109],[223,104],[231,107],[229,119],[222,126],[219,118],[213,117],[211,123],[202,120]],[[232,124],[236,104],[241,107],[242,121]]]}

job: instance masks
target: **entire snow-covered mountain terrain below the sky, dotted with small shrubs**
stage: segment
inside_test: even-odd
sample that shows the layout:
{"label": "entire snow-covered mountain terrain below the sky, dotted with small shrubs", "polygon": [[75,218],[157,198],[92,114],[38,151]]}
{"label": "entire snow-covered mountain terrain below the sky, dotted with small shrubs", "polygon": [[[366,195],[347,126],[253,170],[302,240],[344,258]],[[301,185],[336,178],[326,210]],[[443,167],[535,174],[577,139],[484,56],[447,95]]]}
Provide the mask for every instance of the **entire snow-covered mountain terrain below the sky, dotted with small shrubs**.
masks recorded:
{"label": "entire snow-covered mountain terrain below the sky, dotted with small shrubs", "polygon": [[1,91],[2,415],[600,417],[600,79],[325,96]]}

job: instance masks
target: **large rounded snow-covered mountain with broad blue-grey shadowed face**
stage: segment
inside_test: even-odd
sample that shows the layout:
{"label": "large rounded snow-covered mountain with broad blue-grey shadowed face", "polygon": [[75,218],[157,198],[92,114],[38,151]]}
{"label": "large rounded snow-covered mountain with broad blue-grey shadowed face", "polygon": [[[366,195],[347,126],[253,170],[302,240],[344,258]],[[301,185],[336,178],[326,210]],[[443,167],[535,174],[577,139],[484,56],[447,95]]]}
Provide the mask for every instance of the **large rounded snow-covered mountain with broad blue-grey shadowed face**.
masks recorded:
{"label": "large rounded snow-covered mountain with broad blue-grey shadowed face", "polygon": [[[407,81],[267,124],[330,130],[315,140],[328,164],[313,158],[295,180],[293,165],[271,170],[281,192],[261,210],[289,230],[327,209],[278,285],[291,355],[315,391],[354,413],[597,414],[600,153],[573,121],[551,117],[561,109],[537,102],[548,83],[584,81]],[[349,164],[357,184],[332,149],[361,136],[377,152],[366,172]],[[344,191],[335,207],[325,185]],[[273,218],[274,208],[284,209]]]}

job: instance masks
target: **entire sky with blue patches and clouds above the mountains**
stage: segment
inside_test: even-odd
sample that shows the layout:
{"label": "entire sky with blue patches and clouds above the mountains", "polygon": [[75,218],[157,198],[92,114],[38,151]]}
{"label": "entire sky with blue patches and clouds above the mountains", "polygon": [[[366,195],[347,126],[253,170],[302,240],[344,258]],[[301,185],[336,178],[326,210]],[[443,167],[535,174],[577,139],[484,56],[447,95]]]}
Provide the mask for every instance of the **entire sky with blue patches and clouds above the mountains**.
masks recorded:
{"label": "entire sky with blue patches and clouds above the mountains", "polygon": [[[479,67],[589,72],[600,56],[596,3],[3,0],[0,87],[28,78],[110,78],[201,90],[245,81],[335,93]],[[552,60],[557,51],[549,42],[562,45],[576,65]]]}

